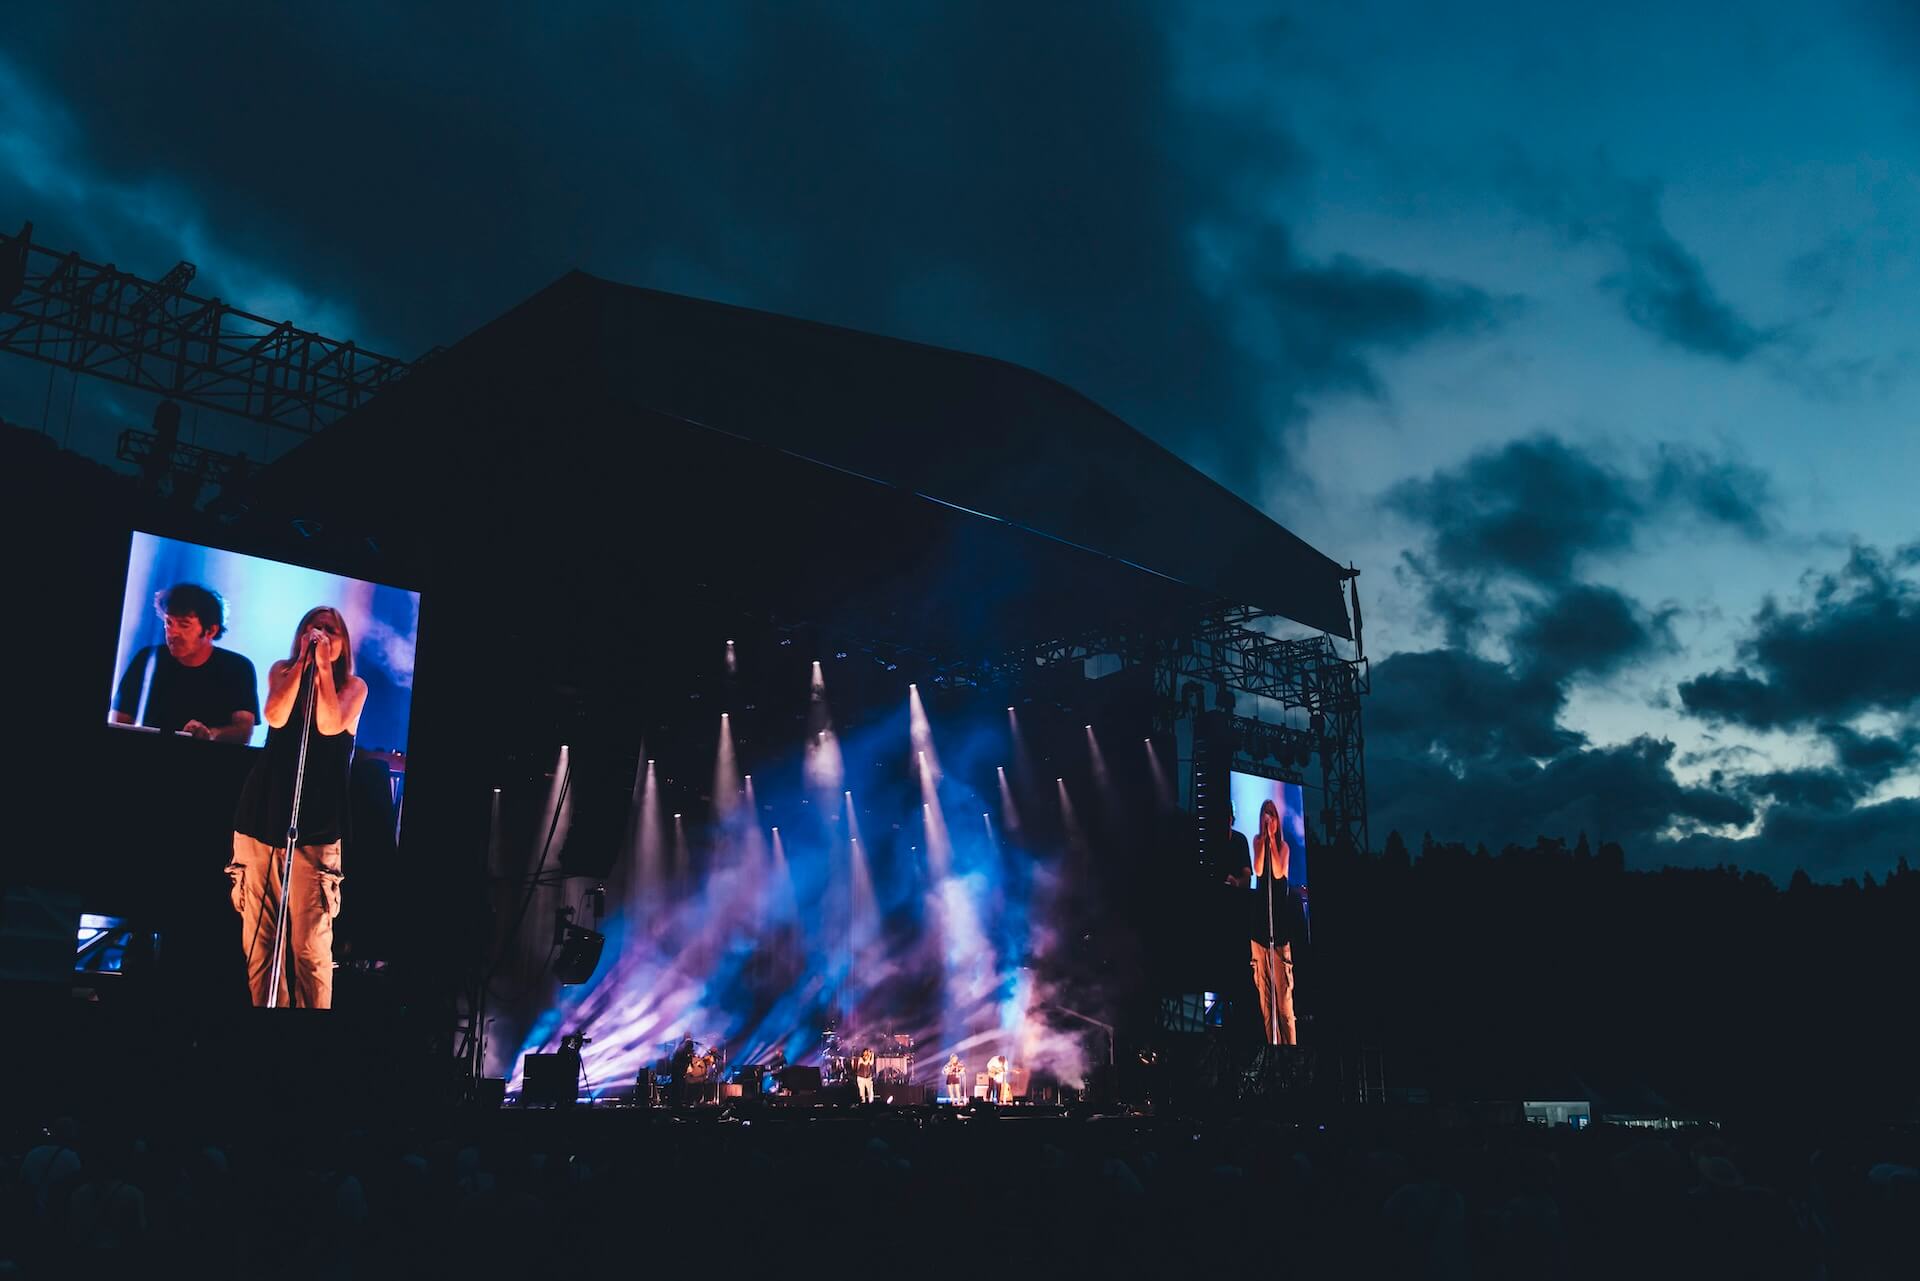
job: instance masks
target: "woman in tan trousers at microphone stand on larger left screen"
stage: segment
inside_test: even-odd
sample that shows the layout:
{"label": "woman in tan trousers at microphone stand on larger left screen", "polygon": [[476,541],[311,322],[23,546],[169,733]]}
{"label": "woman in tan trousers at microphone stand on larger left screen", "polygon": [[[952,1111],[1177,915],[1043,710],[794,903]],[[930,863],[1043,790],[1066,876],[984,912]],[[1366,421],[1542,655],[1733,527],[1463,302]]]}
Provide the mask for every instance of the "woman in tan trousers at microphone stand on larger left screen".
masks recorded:
{"label": "woman in tan trousers at microphone stand on larger left screen", "polygon": [[[311,701],[311,732],[307,726]],[[300,832],[286,889],[284,964],[278,1006],[324,1010],[334,1001],[334,916],[340,914],[340,845],[348,822],[348,766],[367,707],[367,682],[353,674],[353,638],[338,609],[309,609],[294,628],[288,659],[267,670],[267,747],[240,791],[234,860],[227,864],[240,912],[253,1004],[273,989],[273,941],[280,874],[300,780]]]}

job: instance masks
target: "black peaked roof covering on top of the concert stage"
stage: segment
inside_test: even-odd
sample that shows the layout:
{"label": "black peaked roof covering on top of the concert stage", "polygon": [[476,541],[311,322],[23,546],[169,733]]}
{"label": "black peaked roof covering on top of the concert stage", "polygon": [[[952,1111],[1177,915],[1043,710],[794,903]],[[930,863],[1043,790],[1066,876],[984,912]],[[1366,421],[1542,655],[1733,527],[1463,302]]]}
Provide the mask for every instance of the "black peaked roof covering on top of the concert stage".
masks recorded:
{"label": "black peaked roof covering on top of the concert stage", "polygon": [[[538,440],[509,442],[513,423]],[[405,488],[359,474],[351,484],[361,503],[376,503],[382,488],[388,505],[407,494],[417,499],[428,484],[444,505],[457,494],[455,478],[474,501],[499,503],[511,494],[503,482],[541,482],[540,449],[572,457],[578,474],[589,467],[591,440],[614,432],[685,436],[672,446],[678,488],[724,482],[691,472],[703,465],[737,472],[739,446],[760,446],[960,509],[970,520],[985,517],[1021,540],[1043,536],[1135,576],[1144,570],[1160,580],[1150,593],[1175,588],[1350,636],[1332,559],[1052,378],[584,273],[434,355],[296,449],[269,469],[257,497],[280,511],[311,509],[324,490],[340,501],[346,476],[365,471],[353,459],[378,451],[397,463]],[[710,463],[699,438],[710,440]],[[647,455],[634,442],[611,444],[622,465],[643,467]],[[430,449],[459,459],[436,474]],[[476,453],[507,474],[474,484]],[[787,482],[806,484],[804,471],[789,471]],[[987,536],[985,545],[1004,551],[1021,540]]]}

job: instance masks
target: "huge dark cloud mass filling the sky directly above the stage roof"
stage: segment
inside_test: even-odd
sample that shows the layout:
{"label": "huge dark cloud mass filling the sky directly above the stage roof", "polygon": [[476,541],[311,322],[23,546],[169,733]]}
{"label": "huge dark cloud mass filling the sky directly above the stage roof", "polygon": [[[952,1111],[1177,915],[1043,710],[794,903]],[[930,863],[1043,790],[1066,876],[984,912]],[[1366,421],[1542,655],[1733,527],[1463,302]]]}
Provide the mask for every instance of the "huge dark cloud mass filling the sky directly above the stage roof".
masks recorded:
{"label": "huge dark cloud mass filling the sky directly above the stage roof", "polygon": [[[1256,492],[1302,398],[1377,390],[1371,353],[1492,305],[1292,252],[1271,194],[1298,142],[1271,111],[1190,100],[1165,21],[1144,2],[885,23],[845,4],[29,6],[8,23],[15,98],[71,131],[44,181],[0,165],[0,205],[154,273],[184,252],[169,229],[198,227],[211,292],[250,302],[234,265],[269,265],[403,355],[570,267],[977,350]],[[1225,284],[1202,278],[1206,229],[1250,246]]]}

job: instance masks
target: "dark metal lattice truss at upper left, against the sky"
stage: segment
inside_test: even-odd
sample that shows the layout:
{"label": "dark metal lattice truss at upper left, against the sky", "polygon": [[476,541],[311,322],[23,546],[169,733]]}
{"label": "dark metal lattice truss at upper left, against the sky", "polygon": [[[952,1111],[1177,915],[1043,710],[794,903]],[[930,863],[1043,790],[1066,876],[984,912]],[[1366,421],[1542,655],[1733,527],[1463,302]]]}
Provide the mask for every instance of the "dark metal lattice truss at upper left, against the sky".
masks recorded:
{"label": "dark metal lattice truss at upper left, against the sky", "polygon": [[0,351],[311,436],[411,365],[186,292],[194,265],[159,280],[0,234]]}

